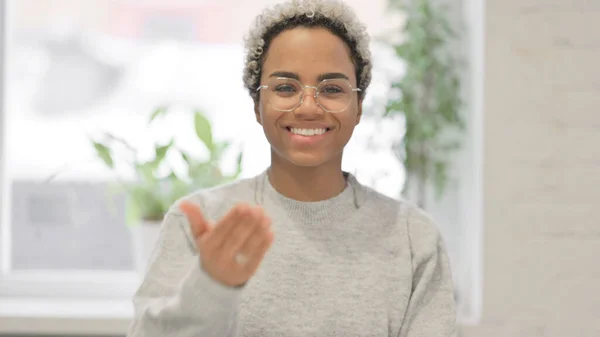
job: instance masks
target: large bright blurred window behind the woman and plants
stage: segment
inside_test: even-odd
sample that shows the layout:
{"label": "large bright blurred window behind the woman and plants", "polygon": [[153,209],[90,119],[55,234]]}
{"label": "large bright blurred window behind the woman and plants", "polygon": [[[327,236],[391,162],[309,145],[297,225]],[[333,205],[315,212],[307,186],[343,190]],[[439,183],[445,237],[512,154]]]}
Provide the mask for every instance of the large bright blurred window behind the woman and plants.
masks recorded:
{"label": "large bright blurred window behind the woman and plants", "polygon": [[[110,131],[143,148],[181,130],[183,146],[193,148],[185,111],[200,107],[217,138],[243,149],[242,176],[266,168],[268,143],[241,81],[241,41],[250,14],[268,2],[8,2],[0,54],[6,83],[0,115],[0,296],[123,298],[133,293],[138,279],[124,199],[107,201],[106,187],[114,176],[95,158],[92,135]],[[350,3],[372,32],[387,28],[381,20],[386,1]],[[404,173],[389,144],[402,134],[401,124],[382,123],[377,116],[388,76],[401,64],[376,43],[373,53],[365,117],[348,145],[344,168],[397,196]],[[176,103],[175,114],[149,131],[148,114],[167,102]],[[228,160],[233,164],[234,158]],[[444,212],[437,218],[462,219]],[[461,266],[457,278],[463,280],[468,260],[458,248],[464,232],[449,225],[443,232],[453,263]]]}

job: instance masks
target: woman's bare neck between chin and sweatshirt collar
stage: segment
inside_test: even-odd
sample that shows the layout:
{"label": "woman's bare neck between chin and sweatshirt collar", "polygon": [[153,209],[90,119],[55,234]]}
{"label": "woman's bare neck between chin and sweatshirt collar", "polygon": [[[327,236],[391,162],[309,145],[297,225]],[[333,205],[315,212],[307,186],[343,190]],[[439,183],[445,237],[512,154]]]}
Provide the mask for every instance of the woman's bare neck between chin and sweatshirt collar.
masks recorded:
{"label": "woman's bare neck between chin and sweatshirt collar", "polygon": [[269,181],[282,195],[298,201],[322,201],[335,197],[346,187],[339,162],[302,167],[273,155]]}

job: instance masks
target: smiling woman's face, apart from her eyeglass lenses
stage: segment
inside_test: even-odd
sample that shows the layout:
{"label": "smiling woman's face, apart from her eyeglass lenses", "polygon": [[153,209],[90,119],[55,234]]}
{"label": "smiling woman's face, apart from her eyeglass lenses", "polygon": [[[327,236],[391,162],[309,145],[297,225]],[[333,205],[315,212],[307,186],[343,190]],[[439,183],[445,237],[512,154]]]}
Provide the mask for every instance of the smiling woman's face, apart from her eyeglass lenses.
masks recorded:
{"label": "smiling woman's face, apart from her eyeglass lenses", "polygon": [[[306,86],[317,86],[321,79],[346,77],[356,88],[350,49],[337,36],[322,28],[298,27],[283,31],[273,39],[262,67],[260,84],[276,77],[296,77]],[[341,164],[344,146],[360,121],[362,102],[352,92],[347,108],[327,112],[315,100],[315,89],[305,89],[303,102],[295,110],[276,110],[261,90],[255,105],[256,120],[271,144],[274,160],[297,166],[315,167]],[[325,130],[325,133],[319,134]]]}

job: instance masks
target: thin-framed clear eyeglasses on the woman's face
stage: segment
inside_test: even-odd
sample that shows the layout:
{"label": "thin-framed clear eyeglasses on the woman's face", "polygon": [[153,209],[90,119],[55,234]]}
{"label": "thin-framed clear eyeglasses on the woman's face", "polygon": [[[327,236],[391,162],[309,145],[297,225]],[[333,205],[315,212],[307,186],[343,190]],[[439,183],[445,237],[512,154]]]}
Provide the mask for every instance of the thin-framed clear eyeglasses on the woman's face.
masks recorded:
{"label": "thin-framed clear eyeglasses on the woman's face", "polygon": [[302,85],[299,81],[287,77],[275,77],[259,86],[256,91],[264,90],[265,98],[273,109],[278,111],[294,111],[304,101],[304,89],[315,89],[315,101],[321,109],[335,113],[348,108],[354,92],[350,82],[343,78],[326,79],[316,87]]}

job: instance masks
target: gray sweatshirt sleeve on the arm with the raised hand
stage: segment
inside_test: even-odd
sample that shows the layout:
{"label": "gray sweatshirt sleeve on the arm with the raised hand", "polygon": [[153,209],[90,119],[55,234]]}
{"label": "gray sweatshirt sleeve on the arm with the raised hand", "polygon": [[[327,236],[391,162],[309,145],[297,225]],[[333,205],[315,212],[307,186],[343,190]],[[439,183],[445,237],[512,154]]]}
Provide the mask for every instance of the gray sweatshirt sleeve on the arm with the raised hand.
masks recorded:
{"label": "gray sweatshirt sleeve on the arm with the raised hand", "polygon": [[204,272],[187,219],[168,213],[133,296],[134,317],[127,336],[237,336],[240,292]]}

